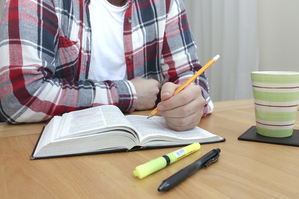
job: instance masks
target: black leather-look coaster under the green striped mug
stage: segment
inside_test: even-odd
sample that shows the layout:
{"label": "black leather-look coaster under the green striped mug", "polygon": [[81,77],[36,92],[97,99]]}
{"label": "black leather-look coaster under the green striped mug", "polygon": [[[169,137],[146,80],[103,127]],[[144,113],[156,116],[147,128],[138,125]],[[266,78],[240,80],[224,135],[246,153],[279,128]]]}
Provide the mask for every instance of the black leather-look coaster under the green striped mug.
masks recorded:
{"label": "black leather-look coaster under the green striped mug", "polygon": [[238,140],[264,142],[270,144],[281,144],[288,146],[299,146],[299,130],[294,129],[290,137],[266,137],[256,132],[256,127],[250,127],[246,132],[238,137]]}

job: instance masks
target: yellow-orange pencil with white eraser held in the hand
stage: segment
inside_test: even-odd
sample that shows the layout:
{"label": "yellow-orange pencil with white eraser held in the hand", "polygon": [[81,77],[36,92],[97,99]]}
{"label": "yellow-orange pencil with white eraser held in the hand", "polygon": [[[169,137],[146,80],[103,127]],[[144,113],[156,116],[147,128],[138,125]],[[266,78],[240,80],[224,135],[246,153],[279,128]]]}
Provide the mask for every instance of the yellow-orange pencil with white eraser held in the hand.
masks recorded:
{"label": "yellow-orange pencil with white eraser held in the hand", "polygon": [[[206,65],[204,65],[199,71],[197,71],[192,77],[190,77],[190,79],[188,79],[182,86],[180,86],[177,90],[174,91],[174,95],[178,94],[179,92],[181,92],[187,85],[191,84],[192,81],[194,81],[198,76],[200,76],[203,72],[205,72],[205,70],[210,67],[215,61],[217,61],[217,59],[219,58],[219,55],[216,55],[213,59],[211,59],[209,62],[206,63]],[[157,113],[159,113],[158,108],[155,108],[149,115],[149,117],[147,118],[151,118],[154,115],[156,115]]]}

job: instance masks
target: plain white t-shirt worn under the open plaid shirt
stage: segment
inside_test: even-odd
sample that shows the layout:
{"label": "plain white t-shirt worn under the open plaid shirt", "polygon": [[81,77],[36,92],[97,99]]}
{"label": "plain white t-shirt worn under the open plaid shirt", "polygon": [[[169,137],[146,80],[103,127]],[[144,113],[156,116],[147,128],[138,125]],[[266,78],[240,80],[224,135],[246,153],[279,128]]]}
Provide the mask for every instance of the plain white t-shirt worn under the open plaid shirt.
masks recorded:
{"label": "plain white t-shirt worn under the open plaid shirt", "polygon": [[127,79],[123,39],[126,8],[127,4],[116,7],[107,0],[90,1],[92,43],[88,79]]}

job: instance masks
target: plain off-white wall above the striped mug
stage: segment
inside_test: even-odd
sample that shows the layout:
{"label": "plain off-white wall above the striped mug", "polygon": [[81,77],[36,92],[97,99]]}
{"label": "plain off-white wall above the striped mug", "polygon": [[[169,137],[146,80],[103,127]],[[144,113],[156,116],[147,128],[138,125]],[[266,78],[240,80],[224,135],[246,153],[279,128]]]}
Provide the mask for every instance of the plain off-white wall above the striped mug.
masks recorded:
{"label": "plain off-white wall above the striped mug", "polygon": [[299,1],[258,0],[260,71],[299,71]]}

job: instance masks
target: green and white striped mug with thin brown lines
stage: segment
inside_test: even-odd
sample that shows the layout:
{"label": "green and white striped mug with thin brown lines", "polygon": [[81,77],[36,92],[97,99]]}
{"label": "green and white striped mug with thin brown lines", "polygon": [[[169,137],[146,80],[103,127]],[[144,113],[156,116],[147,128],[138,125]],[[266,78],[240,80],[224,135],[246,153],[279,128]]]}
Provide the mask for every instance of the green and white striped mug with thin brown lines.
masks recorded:
{"label": "green and white striped mug with thin brown lines", "polygon": [[299,72],[251,72],[256,129],[268,137],[293,133],[299,102]]}

